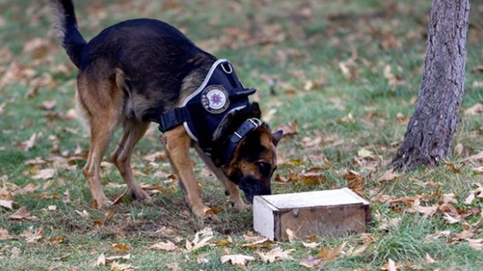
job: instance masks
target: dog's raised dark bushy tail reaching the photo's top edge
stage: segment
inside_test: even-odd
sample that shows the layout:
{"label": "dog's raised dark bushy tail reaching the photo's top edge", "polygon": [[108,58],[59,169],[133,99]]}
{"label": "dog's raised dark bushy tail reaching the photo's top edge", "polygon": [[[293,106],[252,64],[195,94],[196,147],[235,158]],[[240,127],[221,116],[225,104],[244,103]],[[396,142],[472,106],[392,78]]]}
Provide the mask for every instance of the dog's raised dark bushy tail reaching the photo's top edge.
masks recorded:
{"label": "dog's raised dark bushy tail reaching the photo's top edge", "polygon": [[76,12],[72,0],[50,0],[50,12],[54,34],[77,67],[81,65],[81,53],[85,40],[77,28]]}

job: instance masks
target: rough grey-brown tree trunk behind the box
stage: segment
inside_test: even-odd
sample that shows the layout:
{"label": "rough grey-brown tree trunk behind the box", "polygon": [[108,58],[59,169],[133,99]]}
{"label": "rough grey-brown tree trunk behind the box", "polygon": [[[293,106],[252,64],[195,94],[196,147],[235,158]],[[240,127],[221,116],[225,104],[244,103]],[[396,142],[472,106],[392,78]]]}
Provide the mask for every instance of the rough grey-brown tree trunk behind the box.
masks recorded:
{"label": "rough grey-brown tree trunk behind the box", "polygon": [[433,0],[416,111],[391,165],[407,171],[451,155],[464,93],[471,0]]}

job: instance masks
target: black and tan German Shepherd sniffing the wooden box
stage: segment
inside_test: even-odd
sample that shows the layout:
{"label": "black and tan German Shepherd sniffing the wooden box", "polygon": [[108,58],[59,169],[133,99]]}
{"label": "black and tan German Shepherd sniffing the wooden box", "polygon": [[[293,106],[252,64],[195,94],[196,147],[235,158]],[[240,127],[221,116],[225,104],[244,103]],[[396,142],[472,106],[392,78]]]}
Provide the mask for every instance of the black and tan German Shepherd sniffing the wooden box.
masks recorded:
{"label": "black and tan German Shepherd sniffing the wooden box", "polygon": [[[90,131],[91,143],[83,174],[87,178],[94,206],[109,207],[111,201],[99,182],[100,162],[118,128],[124,128],[111,160],[124,178],[133,199],[149,198],[131,171],[134,145],[151,121],[159,122],[166,110],[182,104],[199,87],[215,56],[198,48],[175,27],[154,19],[133,19],[107,27],[88,43],[78,30],[72,0],[50,0],[56,38],[78,67],[76,108]],[[257,103],[237,110],[224,128],[234,131],[240,119],[259,118]],[[191,139],[184,126],[164,132],[161,141],[167,150],[191,211],[199,217],[215,218],[202,202],[193,173],[189,148],[195,148],[226,189],[232,207],[249,209],[247,200],[270,194],[270,178],[277,165],[275,147],[283,132],[272,134],[266,123],[249,132],[237,145],[230,161],[215,165]]]}

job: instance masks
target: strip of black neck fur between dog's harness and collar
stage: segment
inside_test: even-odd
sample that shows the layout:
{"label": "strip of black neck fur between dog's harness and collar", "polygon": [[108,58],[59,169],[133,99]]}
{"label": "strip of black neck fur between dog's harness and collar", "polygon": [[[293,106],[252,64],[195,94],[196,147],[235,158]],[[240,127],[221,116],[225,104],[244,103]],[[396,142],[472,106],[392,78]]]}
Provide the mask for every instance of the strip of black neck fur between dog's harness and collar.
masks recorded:
{"label": "strip of black neck fur between dog's harness and collar", "polygon": [[215,132],[213,132],[213,141],[216,142],[225,139],[228,134],[235,132],[246,119],[251,117],[259,119],[260,115],[260,106],[257,102],[253,102],[240,110],[234,110],[226,114],[222,121],[220,121]]}

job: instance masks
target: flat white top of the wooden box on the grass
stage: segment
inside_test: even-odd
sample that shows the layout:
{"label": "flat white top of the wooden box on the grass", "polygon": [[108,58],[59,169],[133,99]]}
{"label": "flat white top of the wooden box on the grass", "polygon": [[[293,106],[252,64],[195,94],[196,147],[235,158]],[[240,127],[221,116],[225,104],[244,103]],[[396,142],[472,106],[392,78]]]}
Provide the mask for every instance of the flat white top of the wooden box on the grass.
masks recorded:
{"label": "flat white top of the wooden box on the grass", "polygon": [[276,209],[330,207],[345,204],[369,205],[348,188],[260,196]]}

